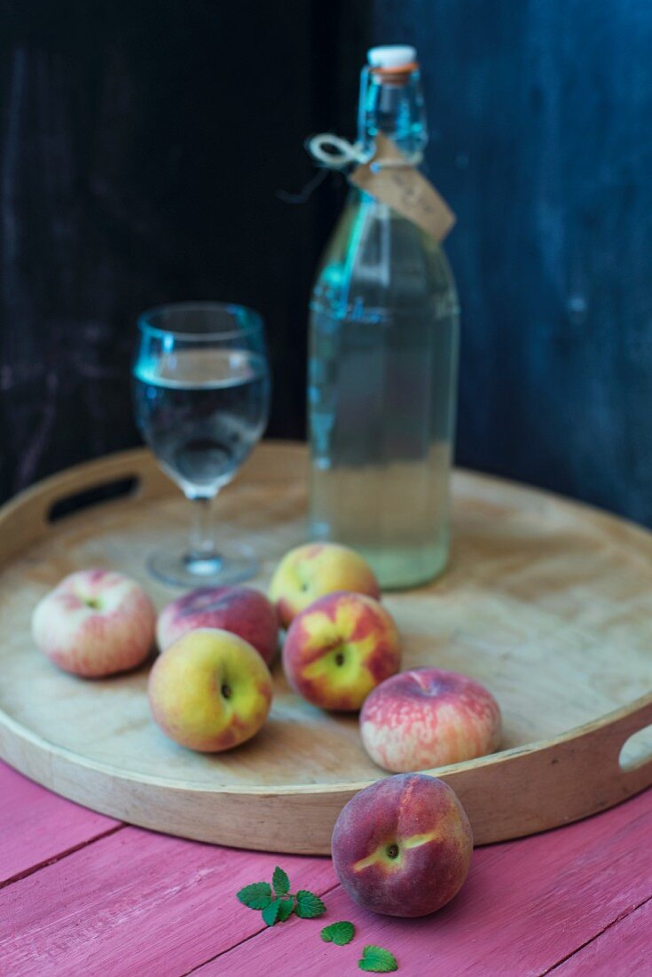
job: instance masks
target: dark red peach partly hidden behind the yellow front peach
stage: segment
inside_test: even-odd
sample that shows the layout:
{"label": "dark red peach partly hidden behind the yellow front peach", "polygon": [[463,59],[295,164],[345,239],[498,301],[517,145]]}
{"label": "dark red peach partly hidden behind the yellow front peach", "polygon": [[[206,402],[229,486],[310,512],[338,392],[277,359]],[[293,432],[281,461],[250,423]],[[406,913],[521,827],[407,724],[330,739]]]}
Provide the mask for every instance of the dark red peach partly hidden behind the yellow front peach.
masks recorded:
{"label": "dark red peach partly hidden behind the yellow front peach", "polygon": [[162,652],[186,631],[219,627],[248,641],[270,664],[278,644],[273,607],[251,587],[198,587],[168,604],[158,616],[156,639]]}

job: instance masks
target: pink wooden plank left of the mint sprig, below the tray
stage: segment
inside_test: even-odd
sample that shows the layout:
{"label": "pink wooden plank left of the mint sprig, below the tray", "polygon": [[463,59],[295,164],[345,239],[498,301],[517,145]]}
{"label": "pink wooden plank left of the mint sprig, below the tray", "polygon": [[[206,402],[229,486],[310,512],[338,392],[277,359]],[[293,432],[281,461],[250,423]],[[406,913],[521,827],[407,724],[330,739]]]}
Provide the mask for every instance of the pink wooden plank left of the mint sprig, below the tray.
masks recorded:
{"label": "pink wooden plank left of the mint sprig, below the tray", "polygon": [[[277,861],[124,828],[0,892],[0,972],[184,974],[265,928],[235,893]],[[337,881],[326,859],[282,865],[295,888]]]}

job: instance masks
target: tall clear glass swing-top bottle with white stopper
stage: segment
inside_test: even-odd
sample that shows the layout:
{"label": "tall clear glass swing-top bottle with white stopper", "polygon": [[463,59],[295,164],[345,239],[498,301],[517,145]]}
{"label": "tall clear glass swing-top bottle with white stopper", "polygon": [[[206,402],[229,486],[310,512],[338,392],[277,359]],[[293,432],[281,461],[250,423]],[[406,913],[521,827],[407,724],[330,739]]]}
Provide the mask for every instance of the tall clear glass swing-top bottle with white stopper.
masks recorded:
{"label": "tall clear glass swing-top bottle with white stopper", "polygon": [[[375,48],[358,142],[385,133],[408,158],[428,141],[414,48]],[[459,305],[443,248],[349,191],[310,302],[309,524],[358,550],[387,588],[440,573],[449,549]]]}

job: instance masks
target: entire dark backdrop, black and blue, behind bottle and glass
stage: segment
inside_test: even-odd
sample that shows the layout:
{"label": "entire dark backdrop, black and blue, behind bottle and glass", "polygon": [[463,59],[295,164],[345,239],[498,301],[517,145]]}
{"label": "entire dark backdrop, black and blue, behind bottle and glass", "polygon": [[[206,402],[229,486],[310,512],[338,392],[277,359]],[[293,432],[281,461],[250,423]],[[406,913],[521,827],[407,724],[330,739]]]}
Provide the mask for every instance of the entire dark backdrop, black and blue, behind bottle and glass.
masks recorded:
{"label": "entire dark backdrop, black and blue, behind bottle and glass", "polygon": [[305,430],[306,304],[372,43],[414,43],[458,214],[458,461],[652,525],[644,0],[0,0],[0,494],[137,444],[137,314],[259,309],[270,436]]}

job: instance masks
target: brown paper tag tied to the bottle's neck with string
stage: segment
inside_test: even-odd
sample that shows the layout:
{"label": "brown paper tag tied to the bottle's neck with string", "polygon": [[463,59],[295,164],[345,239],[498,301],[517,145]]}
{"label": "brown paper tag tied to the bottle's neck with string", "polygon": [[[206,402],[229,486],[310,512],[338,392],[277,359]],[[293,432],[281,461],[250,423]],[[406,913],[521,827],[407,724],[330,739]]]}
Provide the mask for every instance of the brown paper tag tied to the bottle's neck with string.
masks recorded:
{"label": "brown paper tag tied to the bottle's neck with string", "polygon": [[410,165],[376,167],[379,161],[404,158],[396,144],[379,133],[374,158],[356,166],[348,179],[442,241],[455,224],[455,214],[426,177]]}

